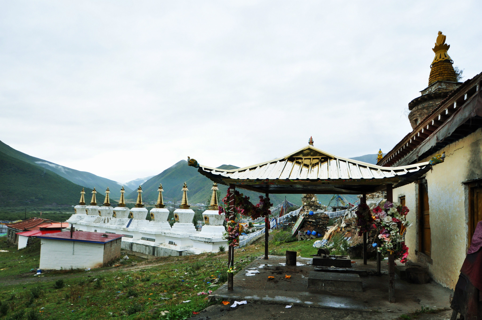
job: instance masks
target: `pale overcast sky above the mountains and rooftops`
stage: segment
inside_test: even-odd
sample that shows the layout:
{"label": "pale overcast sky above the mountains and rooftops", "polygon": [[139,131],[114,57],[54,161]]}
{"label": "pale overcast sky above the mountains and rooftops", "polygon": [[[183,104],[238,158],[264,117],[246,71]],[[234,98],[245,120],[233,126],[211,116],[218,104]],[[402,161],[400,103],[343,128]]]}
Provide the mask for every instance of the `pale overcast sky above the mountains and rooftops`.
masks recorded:
{"label": "pale overcast sky above the mountains and rooftops", "polygon": [[481,1],[0,1],[0,140],[119,182],[187,156],[389,151],[442,30],[482,72]]}

